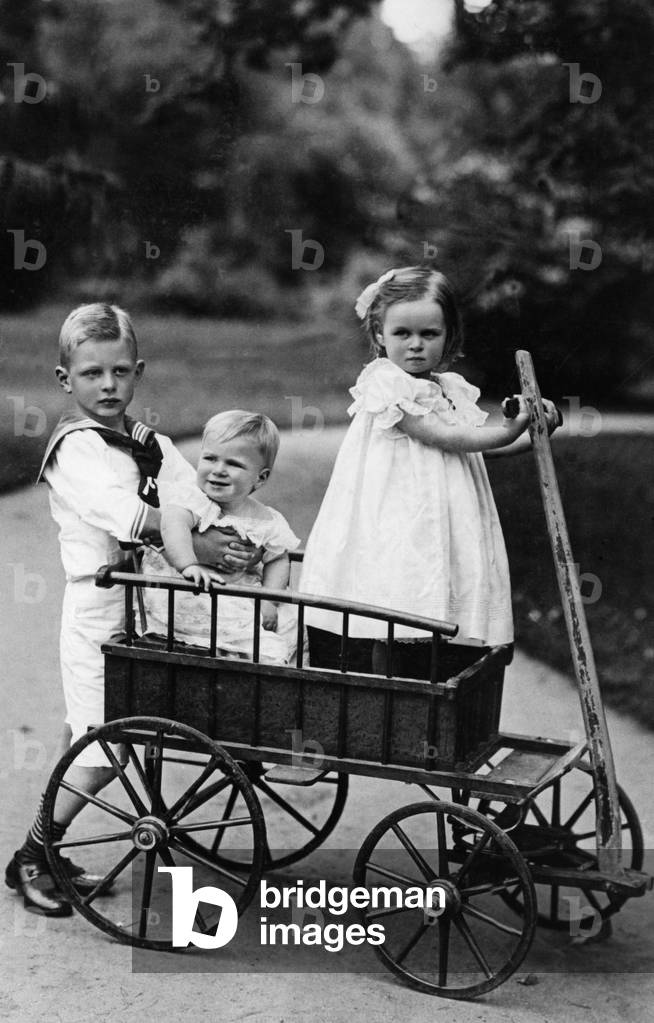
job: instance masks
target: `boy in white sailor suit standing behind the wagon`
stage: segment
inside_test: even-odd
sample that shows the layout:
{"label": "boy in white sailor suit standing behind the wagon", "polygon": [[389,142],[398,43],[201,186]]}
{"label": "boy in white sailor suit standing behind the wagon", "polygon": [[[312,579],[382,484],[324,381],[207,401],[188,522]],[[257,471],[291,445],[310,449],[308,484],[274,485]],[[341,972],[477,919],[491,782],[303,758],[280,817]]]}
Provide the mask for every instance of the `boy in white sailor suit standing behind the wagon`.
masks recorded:
{"label": "boy in white sailor suit standing behind the wagon", "polygon": [[[94,575],[101,565],[120,559],[122,542],[159,536],[159,492],[193,483],[195,474],[168,437],[156,434],[126,414],[143,373],[129,316],[117,306],[81,306],[67,318],[59,335],[59,385],[75,407],[62,416],[50,438],[39,478],[50,487],[50,508],[59,527],[67,586],[60,633],[60,662],[67,719],[63,753],[89,726],[104,719],[104,666],[101,646],[124,630],[124,594],[101,589]],[[199,535],[199,561],[230,572],[250,567],[260,557],[252,544],[213,530]],[[123,751],[116,748],[119,759]],[[99,755],[103,757],[101,751]],[[68,780],[84,792],[97,793],[113,777],[96,744],[76,760]],[[55,840],[85,805],[62,791],[54,810]],[[80,891],[101,880],[64,860]],[[70,916],[72,908],[55,889],[43,847],[41,806],[26,841],[9,862],[5,881],[23,894],[26,908],[43,916]]]}

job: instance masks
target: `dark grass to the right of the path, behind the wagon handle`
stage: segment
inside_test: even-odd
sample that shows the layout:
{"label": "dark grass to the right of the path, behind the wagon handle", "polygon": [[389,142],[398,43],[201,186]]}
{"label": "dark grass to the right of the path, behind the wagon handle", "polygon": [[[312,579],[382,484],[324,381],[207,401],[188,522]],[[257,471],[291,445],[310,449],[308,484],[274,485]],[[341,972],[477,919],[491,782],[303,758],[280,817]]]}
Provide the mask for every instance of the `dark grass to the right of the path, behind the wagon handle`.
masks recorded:
{"label": "dark grass to the right of the path, behind the wagon handle", "polygon": [[[611,706],[654,728],[654,438],[555,444],[557,475],[593,639]],[[495,459],[489,476],[512,571],[520,644],[571,673],[533,459]]]}

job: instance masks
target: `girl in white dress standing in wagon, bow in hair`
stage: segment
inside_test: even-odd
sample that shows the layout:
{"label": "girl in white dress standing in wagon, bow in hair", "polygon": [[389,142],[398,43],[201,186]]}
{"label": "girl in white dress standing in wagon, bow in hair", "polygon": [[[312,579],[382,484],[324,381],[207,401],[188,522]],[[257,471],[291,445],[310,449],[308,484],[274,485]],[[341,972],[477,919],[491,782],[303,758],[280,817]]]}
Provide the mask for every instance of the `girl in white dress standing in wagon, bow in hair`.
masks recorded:
{"label": "girl in white dress standing in wagon, bow in hair", "polygon": [[[482,452],[521,446],[514,442],[528,413],[521,402],[515,418],[486,426],[478,389],[449,371],[462,330],[441,273],[389,270],[355,309],[377,358],[351,389],[352,424],[307,542],[300,588],[453,622],[456,643],[476,648],[474,660],[480,646],[513,640],[509,565]],[[554,422],[556,410],[547,407]],[[305,620],[312,662],[336,667],[336,647],[325,639],[340,633],[341,616],[307,609]],[[379,640],[387,627],[355,617],[349,633]],[[416,653],[426,634],[396,626],[395,637],[413,640]]]}

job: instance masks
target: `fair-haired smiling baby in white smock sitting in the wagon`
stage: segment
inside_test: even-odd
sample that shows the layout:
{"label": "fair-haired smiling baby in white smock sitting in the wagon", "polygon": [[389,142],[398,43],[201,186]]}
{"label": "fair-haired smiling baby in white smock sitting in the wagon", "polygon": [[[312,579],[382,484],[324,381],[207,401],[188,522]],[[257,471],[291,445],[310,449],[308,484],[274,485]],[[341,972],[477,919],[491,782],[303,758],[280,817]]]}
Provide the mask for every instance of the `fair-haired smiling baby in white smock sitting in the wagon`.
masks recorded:
{"label": "fair-haired smiling baby in white smock sitting in the wagon", "polygon": [[[234,409],[214,415],[205,427],[197,485],[161,488],[164,551],[143,555],[143,573],[181,576],[201,587],[224,579],[209,565],[199,565],[191,532],[211,526],[232,527],[245,540],[263,547],[262,561],[248,572],[230,575],[230,584],[285,589],[289,584],[289,550],[300,543],[288,522],[252,494],[268,479],[279,446],[279,434],[266,415]],[[166,633],[167,590],[144,588],[148,631]],[[218,598],[218,656],[252,658],[253,602]],[[297,613],[289,604],[261,602],[260,659],[291,661],[296,647]],[[175,594],[175,638],[207,648],[211,618],[208,596]]]}

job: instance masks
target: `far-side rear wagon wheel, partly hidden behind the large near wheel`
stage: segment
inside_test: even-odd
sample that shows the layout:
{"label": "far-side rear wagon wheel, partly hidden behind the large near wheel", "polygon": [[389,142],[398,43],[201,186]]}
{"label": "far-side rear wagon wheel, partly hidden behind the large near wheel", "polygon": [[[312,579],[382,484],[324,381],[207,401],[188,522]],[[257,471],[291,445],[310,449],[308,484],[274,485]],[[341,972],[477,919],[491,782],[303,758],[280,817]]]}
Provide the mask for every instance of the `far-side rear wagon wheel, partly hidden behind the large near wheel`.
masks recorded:
{"label": "far-side rear wagon wheel, partly hidden behind the large near wheel", "polygon": [[[296,863],[317,849],[332,834],[343,813],[348,791],[347,774],[329,773],[310,786],[278,785],[265,777],[272,764],[246,761],[239,764],[255,789],[266,821],[264,871]],[[243,814],[243,800],[236,786],[222,794],[224,820]],[[190,849],[202,852],[219,866],[249,870],[251,854],[230,845],[226,830],[187,836]]]}

